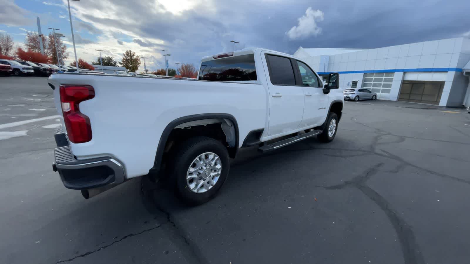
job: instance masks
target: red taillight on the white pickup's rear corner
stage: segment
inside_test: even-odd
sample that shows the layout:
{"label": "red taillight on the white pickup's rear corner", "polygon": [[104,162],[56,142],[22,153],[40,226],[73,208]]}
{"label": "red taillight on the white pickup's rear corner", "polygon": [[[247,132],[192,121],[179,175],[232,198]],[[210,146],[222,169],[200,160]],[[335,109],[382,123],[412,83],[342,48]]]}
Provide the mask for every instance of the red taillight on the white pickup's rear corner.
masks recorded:
{"label": "red taillight on the white pickup's rear corner", "polygon": [[88,116],[80,113],[78,104],[92,99],[94,89],[89,85],[60,86],[63,121],[67,135],[72,143],[84,143],[91,140],[91,124]]}

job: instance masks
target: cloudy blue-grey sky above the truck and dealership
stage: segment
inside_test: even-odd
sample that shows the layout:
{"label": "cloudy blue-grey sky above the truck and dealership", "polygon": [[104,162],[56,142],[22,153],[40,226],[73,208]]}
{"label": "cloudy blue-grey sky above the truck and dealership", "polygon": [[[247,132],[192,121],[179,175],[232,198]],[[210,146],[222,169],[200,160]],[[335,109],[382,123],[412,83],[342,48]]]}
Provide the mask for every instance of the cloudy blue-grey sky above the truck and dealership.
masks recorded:
{"label": "cloudy blue-grey sky above the truck and dealership", "polygon": [[[0,0],[0,33],[24,43],[25,31],[47,27],[66,36],[73,60],[67,0]],[[147,68],[170,67],[243,47],[293,54],[298,47],[375,48],[470,37],[469,0],[80,0],[71,1],[78,57],[120,59],[126,49],[149,57]],[[143,70],[143,63],[141,65]]]}

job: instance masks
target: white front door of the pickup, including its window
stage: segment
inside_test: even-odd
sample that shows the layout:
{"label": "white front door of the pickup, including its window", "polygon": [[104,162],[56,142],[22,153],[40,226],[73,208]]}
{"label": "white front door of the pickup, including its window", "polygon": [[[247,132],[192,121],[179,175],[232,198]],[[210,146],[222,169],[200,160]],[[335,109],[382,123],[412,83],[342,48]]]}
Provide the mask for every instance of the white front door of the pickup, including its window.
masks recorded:
{"label": "white front door of the pickup, including its window", "polygon": [[296,61],[305,95],[304,115],[299,128],[317,126],[325,122],[328,112],[328,94],[323,93],[318,75],[304,62]]}

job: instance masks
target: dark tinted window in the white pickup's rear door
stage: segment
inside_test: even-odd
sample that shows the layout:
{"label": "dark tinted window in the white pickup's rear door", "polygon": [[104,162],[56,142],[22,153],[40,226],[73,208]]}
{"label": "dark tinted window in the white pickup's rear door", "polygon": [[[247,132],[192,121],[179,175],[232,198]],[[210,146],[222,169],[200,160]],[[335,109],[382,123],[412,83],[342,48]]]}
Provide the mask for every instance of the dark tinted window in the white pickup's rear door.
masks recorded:
{"label": "dark tinted window in the white pickup's rear door", "polygon": [[267,55],[269,62],[269,78],[276,85],[295,85],[294,70],[290,59],[286,57]]}

